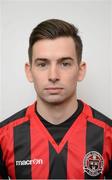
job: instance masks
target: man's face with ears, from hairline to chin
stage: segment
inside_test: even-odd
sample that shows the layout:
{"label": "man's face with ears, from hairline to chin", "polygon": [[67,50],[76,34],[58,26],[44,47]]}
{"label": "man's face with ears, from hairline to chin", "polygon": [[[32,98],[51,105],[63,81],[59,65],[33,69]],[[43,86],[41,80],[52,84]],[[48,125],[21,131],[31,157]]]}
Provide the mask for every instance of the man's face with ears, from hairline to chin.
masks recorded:
{"label": "man's face with ears, from hairline to chin", "polygon": [[76,85],[84,76],[85,64],[78,65],[71,37],[40,40],[33,45],[32,65],[26,73],[33,81],[37,99],[50,104],[76,97]]}

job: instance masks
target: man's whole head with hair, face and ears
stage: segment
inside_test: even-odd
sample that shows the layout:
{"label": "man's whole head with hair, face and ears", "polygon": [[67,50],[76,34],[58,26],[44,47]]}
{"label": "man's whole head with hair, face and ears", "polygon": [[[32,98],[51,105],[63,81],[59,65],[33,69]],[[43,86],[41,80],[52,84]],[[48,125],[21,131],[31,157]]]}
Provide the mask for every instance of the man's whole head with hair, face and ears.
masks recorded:
{"label": "man's whole head with hair, face and ears", "polygon": [[76,98],[77,82],[83,80],[86,69],[77,32],[73,25],[55,19],[33,30],[25,70],[38,102],[59,104]]}

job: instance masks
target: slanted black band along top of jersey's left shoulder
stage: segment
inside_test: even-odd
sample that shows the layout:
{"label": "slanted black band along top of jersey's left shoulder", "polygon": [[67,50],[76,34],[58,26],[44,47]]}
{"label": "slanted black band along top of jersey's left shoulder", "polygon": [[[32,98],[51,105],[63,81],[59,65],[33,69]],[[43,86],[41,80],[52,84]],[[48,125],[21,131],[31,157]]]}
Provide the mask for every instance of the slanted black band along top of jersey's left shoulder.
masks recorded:
{"label": "slanted black band along top of jersey's left shoulder", "polygon": [[26,114],[26,110],[27,110],[27,108],[22,109],[21,111],[15,113],[15,114],[12,115],[11,117],[5,119],[4,121],[2,121],[2,122],[0,123],[0,127],[2,128],[3,126],[5,126],[5,125],[7,125],[7,124],[9,124],[9,123],[17,120],[17,119],[20,119],[20,118],[24,117],[25,114]]}

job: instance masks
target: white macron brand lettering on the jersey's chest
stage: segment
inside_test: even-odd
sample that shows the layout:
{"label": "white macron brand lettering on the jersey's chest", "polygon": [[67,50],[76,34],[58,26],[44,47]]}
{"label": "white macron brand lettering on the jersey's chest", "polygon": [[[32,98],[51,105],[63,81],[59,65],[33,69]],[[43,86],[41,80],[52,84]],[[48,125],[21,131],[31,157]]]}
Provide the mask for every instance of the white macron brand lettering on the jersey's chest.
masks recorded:
{"label": "white macron brand lettering on the jersey's chest", "polygon": [[43,159],[16,161],[16,166],[42,165],[42,164],[43,164]]}

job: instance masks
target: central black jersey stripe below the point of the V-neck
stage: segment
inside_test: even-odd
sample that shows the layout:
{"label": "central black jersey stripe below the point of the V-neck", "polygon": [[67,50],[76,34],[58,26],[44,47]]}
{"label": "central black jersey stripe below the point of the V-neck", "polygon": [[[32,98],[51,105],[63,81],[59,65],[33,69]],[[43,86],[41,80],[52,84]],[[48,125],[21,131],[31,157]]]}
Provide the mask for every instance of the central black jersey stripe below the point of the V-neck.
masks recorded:
{"label": "central black jersey stripe below the point of the V-neck", "polygon": [[49,143],[49,179],[67,179],[67,143],[57,154]]}

